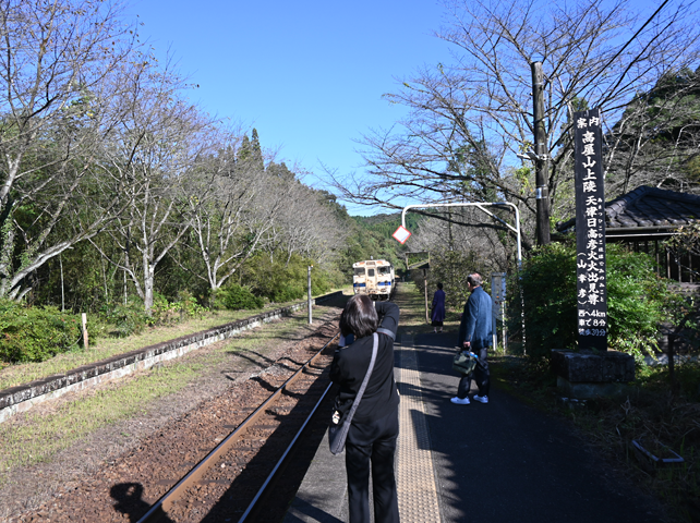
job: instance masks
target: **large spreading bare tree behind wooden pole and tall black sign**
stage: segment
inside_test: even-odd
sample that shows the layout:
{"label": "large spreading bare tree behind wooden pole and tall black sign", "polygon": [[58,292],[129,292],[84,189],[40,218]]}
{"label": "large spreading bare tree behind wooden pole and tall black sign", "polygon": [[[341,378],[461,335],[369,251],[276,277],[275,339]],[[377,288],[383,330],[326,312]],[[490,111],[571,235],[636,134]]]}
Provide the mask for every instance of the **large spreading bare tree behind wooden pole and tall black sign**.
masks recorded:
{"label": "large spreading bare tree behind wooden pole and tall black sign", "polygon": [[572,113],[601,108],[611,168],[623,153],[613,124],[630,101],[664,74],[698,63],[697,19],[686,4],[644,17],[629,0],[447,0],[445,7],[449,23],[437,36],[451,46],[452,63],[425,66],[385,95],[409,114],[363,137],[366,174],[334,175],[345,199],[396,209],[505,199],[519,206],[526,223],[533,221],[533,169],[516,154],[532,147],[531,63],[542,61],[547,186],[552,216],[562,218],[572,195]]}

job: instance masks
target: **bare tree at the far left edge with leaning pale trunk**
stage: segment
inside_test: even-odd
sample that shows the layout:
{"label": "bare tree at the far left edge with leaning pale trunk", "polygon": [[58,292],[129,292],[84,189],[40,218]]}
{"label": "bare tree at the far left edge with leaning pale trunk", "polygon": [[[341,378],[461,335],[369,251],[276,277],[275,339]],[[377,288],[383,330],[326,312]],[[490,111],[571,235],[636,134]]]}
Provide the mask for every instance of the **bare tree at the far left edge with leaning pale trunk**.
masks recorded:
{"label": "bare tree at the far left edge with leaning pale trunk", "polygon": [[[0,1],[0,296],[21,299],[33,271],[117,211],[99,191],[101,147],[141,57],[134,33],[101,1]],[[106,212],[89,211],[96,197]]]}

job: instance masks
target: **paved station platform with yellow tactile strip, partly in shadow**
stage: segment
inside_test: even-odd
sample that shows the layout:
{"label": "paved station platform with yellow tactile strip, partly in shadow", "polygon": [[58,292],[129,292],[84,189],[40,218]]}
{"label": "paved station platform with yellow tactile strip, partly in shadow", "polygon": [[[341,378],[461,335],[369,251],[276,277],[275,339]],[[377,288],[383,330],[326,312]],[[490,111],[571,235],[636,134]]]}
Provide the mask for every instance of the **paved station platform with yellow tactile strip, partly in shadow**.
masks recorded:
{"label": "paved station platform with yellow tactile strip, partly in shadow", "polygon": [[[566,422],[493,385],[488,404],[451,403],[456,341],[445,332],[403,336],[395,344],[402,523],[665,520],[656,500],[613,471]],[[345,454],[333,455],[325,438],[283,523],[347,521]]]}

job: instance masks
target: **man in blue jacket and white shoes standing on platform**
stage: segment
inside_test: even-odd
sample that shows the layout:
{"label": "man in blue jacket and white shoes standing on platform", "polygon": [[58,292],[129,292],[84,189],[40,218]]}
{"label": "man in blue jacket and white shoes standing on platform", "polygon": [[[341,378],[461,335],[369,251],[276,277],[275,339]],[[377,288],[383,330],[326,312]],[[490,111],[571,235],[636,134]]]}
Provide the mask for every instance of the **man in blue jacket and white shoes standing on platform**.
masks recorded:
{"label": "man in blue jacket and white shoes standing on platform", "polygon": [[479,394],[474,400],[481,403],[488,403],[490,372],[488,372],[488,348],[493,344],[493,314],[491,296],[481,287],[481,276],[469,275],[467,285],[471,295],[464,304],[464,313],[459,324],[459,337],[457,346],[462,352],[471,351],[479,357],[474,370],[459,380],[457,396],[450,401],[458,405],[469,404],[469,389],[471,380],[476,381]]}

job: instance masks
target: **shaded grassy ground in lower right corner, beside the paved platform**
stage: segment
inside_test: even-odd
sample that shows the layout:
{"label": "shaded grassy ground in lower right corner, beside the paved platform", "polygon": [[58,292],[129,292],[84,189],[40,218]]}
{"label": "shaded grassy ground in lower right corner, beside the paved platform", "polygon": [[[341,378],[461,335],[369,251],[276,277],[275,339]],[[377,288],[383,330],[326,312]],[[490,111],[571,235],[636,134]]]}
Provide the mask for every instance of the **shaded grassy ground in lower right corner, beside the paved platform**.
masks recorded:
{"label": "shaded grassy ground in lower right corner, beside the paved platform", "polygon": [[[494,357],[492,377],[502,388],[531,405],[570,419],[606,460],[661,499],[673,521],[700,522],[700,366],[684,365],[681,392],[672,394],[663,368],[638,370],[621,398],[587,402],[570,409],[557,402],[556,377],[545,361]],[[668,448],[680,454],[680,466],[654,467],[640,461],[631,445]]]}

